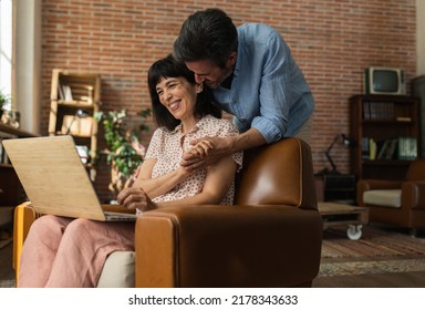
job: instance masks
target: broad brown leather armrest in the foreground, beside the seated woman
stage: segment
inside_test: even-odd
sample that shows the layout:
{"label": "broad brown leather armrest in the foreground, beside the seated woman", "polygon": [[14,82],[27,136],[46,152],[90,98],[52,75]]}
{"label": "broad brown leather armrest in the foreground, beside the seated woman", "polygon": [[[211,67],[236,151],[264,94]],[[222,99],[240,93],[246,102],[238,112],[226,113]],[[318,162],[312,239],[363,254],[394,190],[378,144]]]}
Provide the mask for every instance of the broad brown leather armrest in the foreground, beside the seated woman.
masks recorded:
{"label": "broad brown leather armrest in the foreground, beside the seated woman", "polygon": [[151,210],[136,221],[136,287],[308,287],[319,272],[321,240],[314,209]]}

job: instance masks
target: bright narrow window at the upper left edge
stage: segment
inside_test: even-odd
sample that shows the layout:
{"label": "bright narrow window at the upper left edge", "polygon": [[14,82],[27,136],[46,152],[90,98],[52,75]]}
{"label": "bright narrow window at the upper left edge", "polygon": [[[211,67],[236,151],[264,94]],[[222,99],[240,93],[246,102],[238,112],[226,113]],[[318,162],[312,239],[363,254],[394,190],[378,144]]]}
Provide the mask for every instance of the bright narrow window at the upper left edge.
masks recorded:
{"label": "bright narrow window at the upper left edge", "polygon": [[12,0],[0,0],[0,90],[12,93]]}

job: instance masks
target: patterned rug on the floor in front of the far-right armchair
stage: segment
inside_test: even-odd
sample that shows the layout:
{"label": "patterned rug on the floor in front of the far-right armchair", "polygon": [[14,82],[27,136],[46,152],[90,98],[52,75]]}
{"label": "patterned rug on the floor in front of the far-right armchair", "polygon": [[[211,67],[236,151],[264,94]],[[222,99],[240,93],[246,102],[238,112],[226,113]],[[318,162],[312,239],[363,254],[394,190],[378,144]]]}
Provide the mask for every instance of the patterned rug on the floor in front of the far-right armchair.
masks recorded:
{"label": "patterned rug on the floor in front of the far-right armchair", "polygon": [[350,240],[346,228],[323,231],[319,277],[425,271],[425,238],[366,226]]}

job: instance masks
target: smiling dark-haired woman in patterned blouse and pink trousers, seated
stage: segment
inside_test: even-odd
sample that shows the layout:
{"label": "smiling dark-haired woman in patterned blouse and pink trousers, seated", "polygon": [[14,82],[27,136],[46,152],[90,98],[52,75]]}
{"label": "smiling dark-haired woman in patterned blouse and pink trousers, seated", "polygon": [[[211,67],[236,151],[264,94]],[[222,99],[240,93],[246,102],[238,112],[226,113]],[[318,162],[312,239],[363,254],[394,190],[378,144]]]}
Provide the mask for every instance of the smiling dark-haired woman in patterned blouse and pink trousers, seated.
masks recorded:
{"label": "smiling dark-haired woman in patterned blouse and pink trousers, seated", "polygon": [[[145,161],[132,187],[118,194],[129,209],[195,204],[231,204],[234,178],[242,154],[222,158],[208,168],[179,165],[185,152],[204,156],[210,148],[203,136],[228,136],[237,130],[220,120],[209,90],[172,56],[155,62],[148,72],[155,131]],[[106,257],[134,250],[134,224],[100,223],[45,215],[31,226],[23,246],[19,287],[95,287]]]}

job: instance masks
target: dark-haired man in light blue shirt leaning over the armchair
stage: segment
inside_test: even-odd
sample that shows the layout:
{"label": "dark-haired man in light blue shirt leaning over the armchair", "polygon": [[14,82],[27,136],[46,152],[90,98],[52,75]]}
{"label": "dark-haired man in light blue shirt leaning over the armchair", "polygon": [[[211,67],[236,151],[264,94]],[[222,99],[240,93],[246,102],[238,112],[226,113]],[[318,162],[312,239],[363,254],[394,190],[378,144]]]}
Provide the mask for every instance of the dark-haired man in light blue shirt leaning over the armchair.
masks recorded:
{"label": "dark-haired man in light blue shirt leaning over the armchair", "polygon": [[212,89],[220,107],[235,115],[241,134],[205,138],[203,156],[186,154],[182,165],[197,168],[221,156],[298,136],[310,143],[314,100],[288,44],[266,24],[235,27],[220,9],[188,17],[174,55]]}

